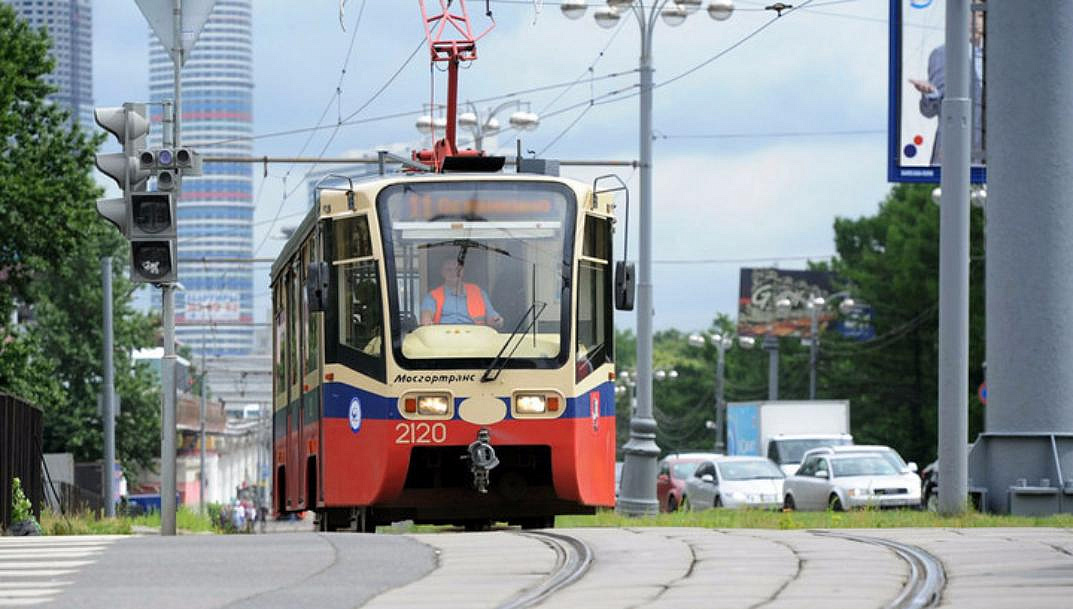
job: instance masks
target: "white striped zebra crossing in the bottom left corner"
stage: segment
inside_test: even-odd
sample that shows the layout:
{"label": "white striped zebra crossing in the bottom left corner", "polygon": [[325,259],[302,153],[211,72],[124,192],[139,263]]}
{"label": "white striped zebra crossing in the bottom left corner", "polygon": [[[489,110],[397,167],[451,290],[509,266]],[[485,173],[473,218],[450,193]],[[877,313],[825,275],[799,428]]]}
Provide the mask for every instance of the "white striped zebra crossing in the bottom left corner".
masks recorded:
{"label": "white striped zebra crossing in the bottom left corner", "polygon": [[0,537],[0,607],[50,603],[121,536]]}

